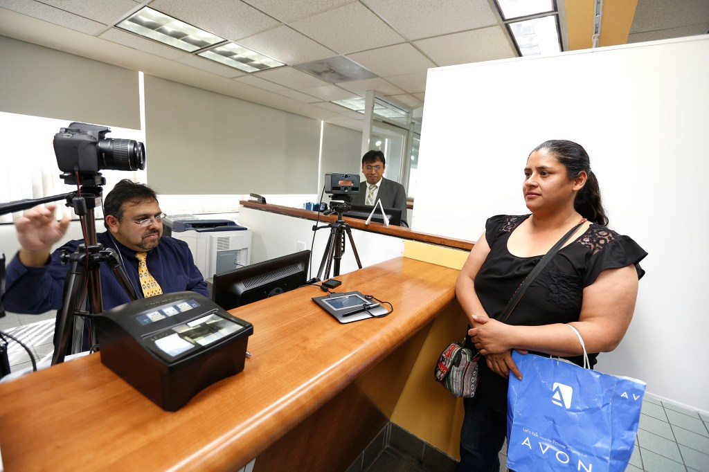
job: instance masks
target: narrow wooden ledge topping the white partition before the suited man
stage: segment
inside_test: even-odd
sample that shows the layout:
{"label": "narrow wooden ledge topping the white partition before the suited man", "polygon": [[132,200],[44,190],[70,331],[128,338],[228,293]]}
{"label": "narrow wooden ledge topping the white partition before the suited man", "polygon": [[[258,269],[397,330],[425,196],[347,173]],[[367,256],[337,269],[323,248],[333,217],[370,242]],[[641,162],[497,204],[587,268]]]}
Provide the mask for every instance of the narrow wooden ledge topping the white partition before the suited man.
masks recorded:
{"label": "narrow wooden ledge topping the white partition before the suited man", "polygon": [[[318,212],[311,210],[301,210],[300,208],[291,208],[289,206],[280,205],[270,205],[268,203],[255,203],[252,201],[240,201],[241,206],[246,208],[253,208],[255,210],[268,211],[270,213],[278,213],[280,215],[290,215],[296,218],[306,218],[307,220],[315,221],[318,218]],[[333,223],[337,219],[337,215],[325,216],[320,213],[320,222],[322,223]],[[401,226],[389,226],[386,227],[382,223],[372,222],[369,225],[364,224],[364,220],[359,220],[357,218],[347,218],[346,216],[342,218],[351,227],[357,228],[357,230],[369,231],[369,232],[379,232],[384,235],[391,235],[396,237],[401,237],[405,240],[413,240],[420,242],[428,242],[434,245],[454,247],[456,249],[464,249],[469,251],[473,248],[472,241],[457,240],[453,237],[445,237],[440,235],[430,235],[426,232],[418,232],[411,230],[408,227]]]}

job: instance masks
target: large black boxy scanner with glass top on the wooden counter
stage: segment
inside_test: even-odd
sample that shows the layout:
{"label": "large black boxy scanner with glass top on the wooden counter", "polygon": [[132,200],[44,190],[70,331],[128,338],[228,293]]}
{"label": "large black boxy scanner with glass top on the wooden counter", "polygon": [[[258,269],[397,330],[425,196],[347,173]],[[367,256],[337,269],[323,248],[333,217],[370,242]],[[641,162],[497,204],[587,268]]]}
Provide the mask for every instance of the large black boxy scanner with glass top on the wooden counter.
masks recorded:
{"label": "large black boxy scanner with glass top on the wooden counter", "polygon": [[101,362],[167,411],[242,371],[254,332],[250,322],[190,291],[141,298],[95,320]]}

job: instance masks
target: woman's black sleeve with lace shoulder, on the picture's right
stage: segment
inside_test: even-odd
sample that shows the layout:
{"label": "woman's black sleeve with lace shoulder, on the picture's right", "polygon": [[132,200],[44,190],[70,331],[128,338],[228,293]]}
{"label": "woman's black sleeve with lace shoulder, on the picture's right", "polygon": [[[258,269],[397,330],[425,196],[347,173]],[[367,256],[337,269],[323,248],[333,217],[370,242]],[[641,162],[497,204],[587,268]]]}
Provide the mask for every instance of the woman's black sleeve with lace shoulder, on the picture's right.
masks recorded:
{"label": "woman's black sleeve with lace shoulder, on the picture's right", "polygon": [[592,225],[591,230],[581,237],[579,243],[588,249],[589,254],[584,287],[596,281],[601,272],[620,269],[630,264],[635,265],[638,279],[645,274],[640,267],[640,261],[647,256],[647,252],[628,236],[619,235],[607,227]]}

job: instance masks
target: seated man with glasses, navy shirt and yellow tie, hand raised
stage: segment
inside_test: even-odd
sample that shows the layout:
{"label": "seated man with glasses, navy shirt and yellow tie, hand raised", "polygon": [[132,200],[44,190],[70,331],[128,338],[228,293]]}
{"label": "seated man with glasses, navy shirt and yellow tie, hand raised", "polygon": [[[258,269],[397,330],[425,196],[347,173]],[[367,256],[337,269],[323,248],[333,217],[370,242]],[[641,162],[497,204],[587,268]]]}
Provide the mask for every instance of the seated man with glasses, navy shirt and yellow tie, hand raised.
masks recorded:
{"label": "seated man with glasses, navy shirt and yellow tie, hand raised", "polygon": [[[54,208],[50,204],[26,211],[15,223],[21,249],[7,266],[3,302],[8,311],[32,314],[62,307],[69,264],[62,265],[60,256],[62,250],[72,254],[84,240],[69,241],[50,254],[69,227],[68,217],[55,219]],[[104,199],[104,215],[107,231],[99,232],[96,242],[116,249],[138,297],[149,296],[141,283],[138,257],[143,257],[143,266],[147,264],[150,280],[157,282],[157,293],[195,291],[208,296],[206,281],[186,242],[162,238],[165,214],[150,187],[121,180]],[[100,270],[104,310],[128,303],[130,298],[108,264],[101,264]]]}

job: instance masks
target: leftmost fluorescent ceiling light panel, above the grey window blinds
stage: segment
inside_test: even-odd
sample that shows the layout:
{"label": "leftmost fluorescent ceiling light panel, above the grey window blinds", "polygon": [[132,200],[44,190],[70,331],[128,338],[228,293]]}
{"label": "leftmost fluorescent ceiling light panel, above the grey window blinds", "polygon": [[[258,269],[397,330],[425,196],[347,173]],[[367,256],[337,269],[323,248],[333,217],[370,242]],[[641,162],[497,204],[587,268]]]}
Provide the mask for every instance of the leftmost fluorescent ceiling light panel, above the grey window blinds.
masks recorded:
{"label": "leftmost fluorescent ceiling light panel, above the grey window blinds", "polygon": [[208,33],[147,6],[125,18],[116,26],[187,52],[225,41],[220,36]]}

